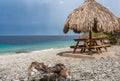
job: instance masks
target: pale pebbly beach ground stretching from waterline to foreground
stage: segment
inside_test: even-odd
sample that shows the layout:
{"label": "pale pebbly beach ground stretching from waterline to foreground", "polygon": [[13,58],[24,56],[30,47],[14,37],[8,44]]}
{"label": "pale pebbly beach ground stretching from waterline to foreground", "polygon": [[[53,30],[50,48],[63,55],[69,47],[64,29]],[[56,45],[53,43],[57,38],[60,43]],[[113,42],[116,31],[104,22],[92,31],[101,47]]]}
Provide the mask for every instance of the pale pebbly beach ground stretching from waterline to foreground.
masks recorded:
{"label": "pale pebbly beach ground stretching from waterline to foreground", "polygon": [[[120,46],[108,49],[108,56],[100,59],[62,57],[60,53],[72,51],[70,48],[49,49],[0,56],[0,81],[11,81],[27,77],[31,62],[44,62],[53,66],[63,63],[72,77],[80,81],[119,81],[120,80]],[[102,55],[102,54],[100,54]]]}

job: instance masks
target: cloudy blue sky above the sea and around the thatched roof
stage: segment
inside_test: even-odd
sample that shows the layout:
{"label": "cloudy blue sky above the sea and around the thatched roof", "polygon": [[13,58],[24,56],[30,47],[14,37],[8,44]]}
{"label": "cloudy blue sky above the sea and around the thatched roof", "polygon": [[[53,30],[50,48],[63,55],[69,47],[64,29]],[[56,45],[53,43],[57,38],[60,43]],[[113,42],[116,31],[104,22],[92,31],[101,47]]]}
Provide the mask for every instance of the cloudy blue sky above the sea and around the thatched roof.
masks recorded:
{"label": "cloudy blue sky above the sea and around the thatched roof", "polygon": [[[96,0],[120,17],[120,0]],[[84,0],[0,0],[0,35],[64,35],[72,10]],[[74,35],[72,31],[68,35]]]}

